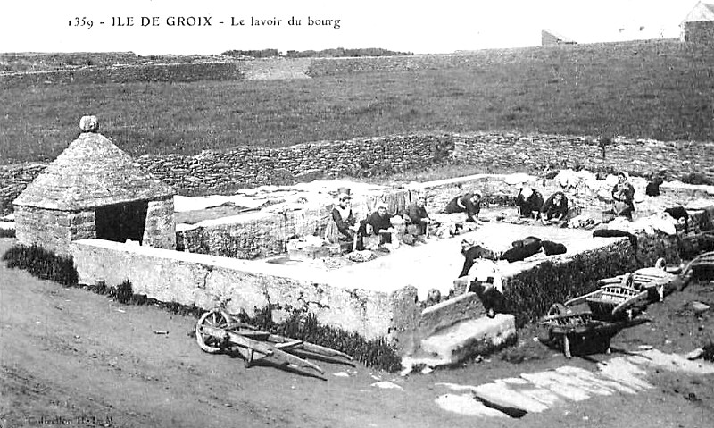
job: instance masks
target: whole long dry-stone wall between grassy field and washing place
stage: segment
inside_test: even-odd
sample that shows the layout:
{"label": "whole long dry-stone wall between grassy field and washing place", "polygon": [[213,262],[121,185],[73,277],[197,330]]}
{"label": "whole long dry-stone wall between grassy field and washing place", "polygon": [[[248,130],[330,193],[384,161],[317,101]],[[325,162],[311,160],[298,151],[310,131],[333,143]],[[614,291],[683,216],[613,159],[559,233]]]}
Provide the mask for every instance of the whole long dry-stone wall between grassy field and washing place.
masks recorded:
{"label": "whole long dry-stone wall between grassy field and washing place", "polygon": [[[667,180],[695,176],[714,182],[712,143],[622,139],[606,146],[603,158],[602,147],[590,138],[503,132],[357,138],[281,148],[237,147],[190,156],[144,155],[136,161],[181,195],[321,178],[388,176],[390,172],[420,170],[439,163],[538,177],[568,168],[625,170],[632,175],[667,171]],[[45,167],[0,166],[0,210],[12,211],[12,199]]]}

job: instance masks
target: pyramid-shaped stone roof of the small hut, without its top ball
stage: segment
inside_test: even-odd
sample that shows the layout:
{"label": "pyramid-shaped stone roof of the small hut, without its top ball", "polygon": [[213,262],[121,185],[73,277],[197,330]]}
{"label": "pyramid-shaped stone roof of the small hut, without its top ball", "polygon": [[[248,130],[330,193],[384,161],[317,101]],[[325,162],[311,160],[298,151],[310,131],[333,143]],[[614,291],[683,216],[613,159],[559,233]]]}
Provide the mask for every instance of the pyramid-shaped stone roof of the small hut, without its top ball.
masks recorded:
{"label": "pyramid-shaped stone roof of the small hut, without its top ball", "polygon": [[81,211],[170,197],[175,191],[143,171],[102,134],[83,133],[17,197],[17,206]]}

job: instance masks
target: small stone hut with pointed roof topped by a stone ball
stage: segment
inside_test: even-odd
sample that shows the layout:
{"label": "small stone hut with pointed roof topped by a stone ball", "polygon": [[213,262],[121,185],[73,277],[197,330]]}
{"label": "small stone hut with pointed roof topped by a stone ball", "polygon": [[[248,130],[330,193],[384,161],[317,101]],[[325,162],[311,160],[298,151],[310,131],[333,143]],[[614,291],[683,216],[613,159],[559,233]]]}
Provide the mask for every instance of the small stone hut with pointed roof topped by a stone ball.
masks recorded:
{"label": "small stone hut with pointed roof topped by a stone ball", "polygon": [[77,239],[137,241],[176,248],[170,186],[96,133],[86,116],[80,134],[13,202],[18,241],[71,255]]}

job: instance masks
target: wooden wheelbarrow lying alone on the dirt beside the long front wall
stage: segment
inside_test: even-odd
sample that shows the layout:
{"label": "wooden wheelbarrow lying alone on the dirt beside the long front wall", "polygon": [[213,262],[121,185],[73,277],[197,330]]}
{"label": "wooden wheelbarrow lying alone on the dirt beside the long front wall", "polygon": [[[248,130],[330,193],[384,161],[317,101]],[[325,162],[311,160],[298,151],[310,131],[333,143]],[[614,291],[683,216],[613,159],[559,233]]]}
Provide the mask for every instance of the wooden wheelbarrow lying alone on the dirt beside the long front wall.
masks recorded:
{"label": "wooden wheelbarrow lying alone on the dirt beside the long front wall", "polygon": [[260,331],[250,324],[235,321],[220,309],[201,315],[195,325],[195,340],[209,354],[237,352],[245,359],[246,367],[254,363],[276,365],[326,381],[320,366],[304,358],[353,365],[353,357],[343,352]]}

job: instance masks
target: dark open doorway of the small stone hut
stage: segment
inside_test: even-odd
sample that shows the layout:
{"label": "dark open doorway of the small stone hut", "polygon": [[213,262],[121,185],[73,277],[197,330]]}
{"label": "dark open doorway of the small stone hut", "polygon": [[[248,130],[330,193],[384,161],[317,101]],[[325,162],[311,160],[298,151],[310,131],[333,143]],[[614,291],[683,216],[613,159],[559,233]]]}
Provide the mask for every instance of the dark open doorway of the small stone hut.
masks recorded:
{"label": "dark open doorway of the small stone hut", "polygon": [[115,242],[126,242],[127,239],[131,239],[142,243],[148,208],[148,201],[97,207],[96,238]]}

